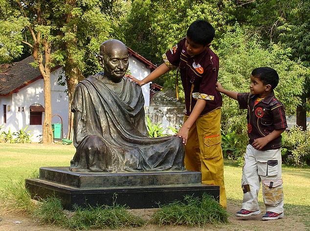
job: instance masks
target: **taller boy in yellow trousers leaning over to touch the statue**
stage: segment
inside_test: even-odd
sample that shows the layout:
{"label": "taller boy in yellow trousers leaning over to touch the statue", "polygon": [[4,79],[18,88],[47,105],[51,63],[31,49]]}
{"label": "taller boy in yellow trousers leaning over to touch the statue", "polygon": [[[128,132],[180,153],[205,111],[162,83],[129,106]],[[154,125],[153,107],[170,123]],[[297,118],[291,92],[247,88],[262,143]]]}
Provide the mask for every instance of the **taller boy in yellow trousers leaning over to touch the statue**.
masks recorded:
{"label": "taller boy in yellow trousers leaning over to touch the statue", "polygon": [[220,205],[226,208],[220,128],[222,98],[215,89],[219,58],[210,49],[214,35],[209,22],[194,21],[186,37],[163,55],[164,63],[143,80],[133,80],[140,85],[147,84],[179,68],[186,113],[176,135],[186,145],[185,168],[200,171],[202,183],[219,185]]}

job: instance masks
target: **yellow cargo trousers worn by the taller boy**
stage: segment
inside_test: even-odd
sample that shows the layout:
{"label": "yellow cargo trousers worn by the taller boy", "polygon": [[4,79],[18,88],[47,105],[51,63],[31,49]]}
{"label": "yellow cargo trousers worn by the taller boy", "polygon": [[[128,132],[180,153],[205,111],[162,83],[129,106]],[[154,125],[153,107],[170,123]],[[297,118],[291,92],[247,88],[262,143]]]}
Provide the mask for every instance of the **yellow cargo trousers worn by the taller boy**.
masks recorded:
{"label": "yellow cargo trousers worn by the taller boy", "polygon": [[[184,117],[184,122],[187,118]],[[187,170],[200,171],[203,184],[220,186],[220,205],[226,209],[221,108],[200,116],[189,130],[184,165]]]}

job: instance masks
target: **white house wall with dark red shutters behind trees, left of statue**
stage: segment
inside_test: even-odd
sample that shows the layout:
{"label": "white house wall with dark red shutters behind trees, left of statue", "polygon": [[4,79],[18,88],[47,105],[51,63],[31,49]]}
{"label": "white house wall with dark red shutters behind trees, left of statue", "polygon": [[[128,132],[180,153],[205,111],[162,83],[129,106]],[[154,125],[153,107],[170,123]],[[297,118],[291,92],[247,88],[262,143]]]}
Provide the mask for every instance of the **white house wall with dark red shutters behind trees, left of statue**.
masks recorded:
{"label": "white house wall with dark red shutters behind trees, left of statue", "polygon": [[[60,68],[51,73],[51,106],[52,106],[52,115],[60,114],[63,118],[63,137],[66,137],[67,128],[68,128],[68,97],[64,92],[66,86],[58,86],[57,79],[60,72]],[[31,140],[33,142],[38,142],[42,134],[42,125],[29,125],[30,122],[30,105],[32,104],[41,104],[44,106],[44,83],[43,79],[39,79],[22,89],[19,92],[13,93],[12,103],[8,103],[10,99],[8,97],[0,97],[0,103],[3,110],[3,102],[6,102],[6,105],[11,105],[11,111],[7,112],[6,115],[6,125],[5,130],[11,128],[12,132],[18,131],[21,128],[24,128],[28,125],[27,131],[33,134]],[[20,107],[20,111],[18,111]],[[22,111],[22,107],[24,111]],[[1,118],[3,122],[3,112],[1,113]],[[52,118],[52,124],[60,124],[59,117]],[[44,122],[44,112],[42,115],[42,124]]]}

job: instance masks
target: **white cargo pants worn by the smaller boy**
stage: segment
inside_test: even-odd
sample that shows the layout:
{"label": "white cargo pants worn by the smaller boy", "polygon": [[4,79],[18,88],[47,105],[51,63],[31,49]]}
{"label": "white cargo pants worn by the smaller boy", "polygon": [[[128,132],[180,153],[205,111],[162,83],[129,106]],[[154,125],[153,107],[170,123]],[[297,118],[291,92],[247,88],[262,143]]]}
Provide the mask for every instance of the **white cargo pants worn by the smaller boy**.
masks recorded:
{"label": "white cargo pants worn by the smaller boy", "polygon": [[241,186],[244,191],[242,209],[259,210],[258,192],[261,182],[266,211],[282,213],[283,181],[282,181],[281,149],[260,151],[251,145],[246,147]]}

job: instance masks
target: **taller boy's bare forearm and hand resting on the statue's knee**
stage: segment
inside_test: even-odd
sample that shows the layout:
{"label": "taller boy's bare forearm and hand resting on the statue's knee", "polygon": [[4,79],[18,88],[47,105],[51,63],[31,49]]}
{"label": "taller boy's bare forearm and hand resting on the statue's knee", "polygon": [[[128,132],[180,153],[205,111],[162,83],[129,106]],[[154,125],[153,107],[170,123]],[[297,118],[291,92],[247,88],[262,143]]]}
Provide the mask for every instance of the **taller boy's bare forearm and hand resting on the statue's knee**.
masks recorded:
{"label": "taller boy's bare forearm and hand resting on the statue's knee", "polygon": [[193,111],[190,114],[190,116],[187,118],[187,120],[184,122],[184,124],[178,130],[177,134],[175,134],[176,136],[182,138],[184,145],[186,145],[186,143],[187,143],[189,129],[196,122],[197,118],[199,117],[200,113],[202,112],[202,110],[206,104],[207,104],[206,100],[198,99],[196,105],[193,108]]}

